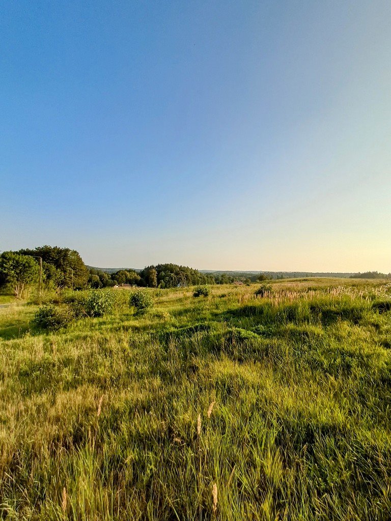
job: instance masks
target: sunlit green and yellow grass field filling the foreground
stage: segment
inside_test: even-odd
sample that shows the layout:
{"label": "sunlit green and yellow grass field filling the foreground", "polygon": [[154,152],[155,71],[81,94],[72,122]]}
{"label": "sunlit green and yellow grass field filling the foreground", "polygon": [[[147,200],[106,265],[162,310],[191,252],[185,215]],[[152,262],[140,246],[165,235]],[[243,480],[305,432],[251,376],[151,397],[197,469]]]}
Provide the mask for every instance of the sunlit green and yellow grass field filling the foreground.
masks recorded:
{"label": "sunlit green and yellow grass field filling the foreground", "polygon": [[0,308],[2,519],[391,519],[391,285],[257,287]]}

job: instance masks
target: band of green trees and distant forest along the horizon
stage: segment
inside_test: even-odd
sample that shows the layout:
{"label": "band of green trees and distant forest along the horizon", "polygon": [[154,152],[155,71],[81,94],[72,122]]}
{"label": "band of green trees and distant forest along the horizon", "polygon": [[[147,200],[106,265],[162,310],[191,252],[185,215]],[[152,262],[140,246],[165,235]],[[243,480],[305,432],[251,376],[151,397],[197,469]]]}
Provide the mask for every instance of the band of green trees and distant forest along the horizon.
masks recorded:
{"label": "band of green trees and distant forest along the horizon", "polygon": [[3,252],[0,255],[0,288],[10,287],[16,296],[39,284],[40,289],[108,288],[114,286],[143,286],[175,288],[195,284],[227,284],[235,281],[251,283],[267,279],[340,277],[391,278],[391,274],[367,271],[364,273],[304,272],[304,271],[199,271],[177,264],[157,264],[143,269],[95,268],[86,266],[76,250],[58,246],[39,246],[34,250]]}

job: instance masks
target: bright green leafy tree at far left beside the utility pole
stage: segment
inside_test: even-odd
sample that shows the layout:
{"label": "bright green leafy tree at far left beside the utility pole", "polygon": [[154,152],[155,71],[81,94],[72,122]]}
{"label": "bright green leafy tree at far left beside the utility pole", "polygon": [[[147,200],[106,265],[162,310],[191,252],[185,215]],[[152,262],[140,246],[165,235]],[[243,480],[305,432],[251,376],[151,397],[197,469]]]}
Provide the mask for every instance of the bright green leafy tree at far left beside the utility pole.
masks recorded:
{"label": "bright green leafy tree at far left beside the utility pole", "polygon": [[0,280],[3,285],[13,288],[17,299],[21,299],[38,279],[39,267],[32,257],[14,252],[0,255]]}

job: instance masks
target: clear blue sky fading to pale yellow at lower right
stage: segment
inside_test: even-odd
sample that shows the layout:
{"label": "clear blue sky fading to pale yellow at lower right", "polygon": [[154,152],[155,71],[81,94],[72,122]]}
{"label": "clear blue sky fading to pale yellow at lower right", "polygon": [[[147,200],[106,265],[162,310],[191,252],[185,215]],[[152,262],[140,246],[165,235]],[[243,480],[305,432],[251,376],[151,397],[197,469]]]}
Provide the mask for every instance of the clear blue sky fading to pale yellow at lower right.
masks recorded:
{"label": "clear blue sky fading to pale yellow at lower right", "polygon": [[391,2],[0,6],[0,250],[391,271]]}

